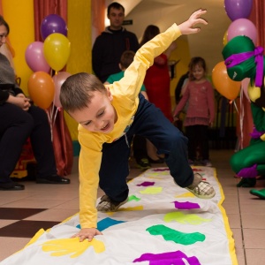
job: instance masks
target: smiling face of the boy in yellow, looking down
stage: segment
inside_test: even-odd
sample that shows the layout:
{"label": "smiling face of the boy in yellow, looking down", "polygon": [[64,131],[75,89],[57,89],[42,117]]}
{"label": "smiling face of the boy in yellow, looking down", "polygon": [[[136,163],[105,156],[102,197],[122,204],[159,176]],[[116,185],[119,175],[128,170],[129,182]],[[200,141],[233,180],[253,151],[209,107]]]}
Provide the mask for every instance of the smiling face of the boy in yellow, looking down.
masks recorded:
{"label": "smiling face of the boy in yellow, looking down", "polygon": [[111,105],[113,99],[110,90],[106,93],[95,91],[88,107],[75,110],[69,114],[87,131],[95,133],[110,133],[117,122],[117,113]]}

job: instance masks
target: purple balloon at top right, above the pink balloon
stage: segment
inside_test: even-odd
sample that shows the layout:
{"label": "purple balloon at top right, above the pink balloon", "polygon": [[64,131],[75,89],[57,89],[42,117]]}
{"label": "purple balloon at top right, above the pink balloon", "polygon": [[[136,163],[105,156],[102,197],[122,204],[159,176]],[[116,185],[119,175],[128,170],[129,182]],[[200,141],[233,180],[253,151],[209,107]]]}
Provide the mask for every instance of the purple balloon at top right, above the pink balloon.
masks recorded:
{"label": "purple balloon at top right, above the pink balloon", "polygon": [[253,0],[224,0],[224,9],[228,17],[236,19],[247,19],[252,9]]}

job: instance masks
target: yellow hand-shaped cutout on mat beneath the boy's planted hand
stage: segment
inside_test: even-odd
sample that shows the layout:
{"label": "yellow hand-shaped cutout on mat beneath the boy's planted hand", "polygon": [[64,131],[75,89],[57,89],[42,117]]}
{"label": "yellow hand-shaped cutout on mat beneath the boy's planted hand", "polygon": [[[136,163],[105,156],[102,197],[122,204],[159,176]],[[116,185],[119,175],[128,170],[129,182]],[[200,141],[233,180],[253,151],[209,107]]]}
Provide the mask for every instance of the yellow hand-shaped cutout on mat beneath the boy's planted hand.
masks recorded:
{"label": "yellow hand-shaped cutout on mat beneath the boy's planted hand", "polygon": [[49,240],[42,244],[42,251],[52,252],[50,255],[57,257],[72,254],[70,257],[76,258],[83,254],[89,246],[94,247],[95,253],[105,251],[105,245],[102,241],[93,239],[91,242],[88,240],[79,242],[79,238]]}

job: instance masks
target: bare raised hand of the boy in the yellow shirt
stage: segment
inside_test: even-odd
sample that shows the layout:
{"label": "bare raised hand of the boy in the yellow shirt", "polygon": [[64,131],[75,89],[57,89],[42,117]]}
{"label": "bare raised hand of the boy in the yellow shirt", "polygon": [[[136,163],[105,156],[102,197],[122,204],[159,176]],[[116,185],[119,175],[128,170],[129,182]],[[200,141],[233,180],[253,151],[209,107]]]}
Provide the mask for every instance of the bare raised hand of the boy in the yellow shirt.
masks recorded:
{"label": "bare raised hand of the boy in the yellow shirt", "polygon": [[179,24],[178,28],[181,34],[195,34],[201,31],[200,27],[195,27],[197,24],[208,25],[208,22],[205,19],[201,19],[201,16],[206,12],[206,10],[194,11],[189,19]]}

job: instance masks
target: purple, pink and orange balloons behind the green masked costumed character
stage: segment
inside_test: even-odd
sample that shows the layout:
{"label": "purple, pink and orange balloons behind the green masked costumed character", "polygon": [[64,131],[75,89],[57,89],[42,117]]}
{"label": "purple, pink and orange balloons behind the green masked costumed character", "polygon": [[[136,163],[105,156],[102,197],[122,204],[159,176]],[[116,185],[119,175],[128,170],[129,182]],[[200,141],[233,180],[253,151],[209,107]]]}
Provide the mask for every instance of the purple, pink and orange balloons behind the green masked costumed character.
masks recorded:
{"label": "purple, pink and orange balloons behind the green masked costumed character", "polygon": [[[231,25],[223,36],[223,45],[236,36],[245,35],[254,43],[257,42],[257,29],[254,23],[247,19],[251,13],[253,0],[224,0],[224,9],[231,19]],[[233,101],[239,95],[241,82],[232,80],[224,62],[216,64],[212,71],[213,84],[216,90]]]}

